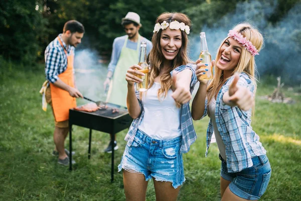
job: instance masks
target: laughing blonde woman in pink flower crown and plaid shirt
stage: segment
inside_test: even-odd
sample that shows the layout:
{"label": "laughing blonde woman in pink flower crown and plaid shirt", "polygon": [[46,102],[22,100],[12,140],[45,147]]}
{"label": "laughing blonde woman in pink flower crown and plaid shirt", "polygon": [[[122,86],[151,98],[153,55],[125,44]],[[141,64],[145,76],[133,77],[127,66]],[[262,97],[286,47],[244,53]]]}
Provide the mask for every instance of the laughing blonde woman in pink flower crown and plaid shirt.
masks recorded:
{"label": "laughing blonde woman in pink flower crown and plaid shirt", "polygon": [[208,86],[200,79],[199,68],[205,65],[197,62],[200,86],[192,103],[192,117],[210,117],[206,155],[214,133],[222,161],[221,200],[257,200],[270,179],[266,150],[250,125],[256,91],[254,56],[262,44],[262,35],[250,24],[235,26],[218,49],[215,75]]}

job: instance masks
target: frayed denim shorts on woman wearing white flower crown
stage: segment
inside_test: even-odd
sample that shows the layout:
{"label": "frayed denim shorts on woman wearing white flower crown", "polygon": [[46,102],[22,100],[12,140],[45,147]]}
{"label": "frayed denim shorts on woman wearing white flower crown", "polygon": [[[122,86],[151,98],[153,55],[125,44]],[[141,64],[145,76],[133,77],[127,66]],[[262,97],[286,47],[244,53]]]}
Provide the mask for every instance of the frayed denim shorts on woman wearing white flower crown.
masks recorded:
{"label": "frayed denim shorts on woman wearing white flower crown", "polygon": [[172,182],[174,188],[185,181],[182,153],[182,136],[170,140],[158,140],[137,130],[131,146],[126,145],[118,172],[124,169],[144,174],[145,181],[154,177],[157,181]]}

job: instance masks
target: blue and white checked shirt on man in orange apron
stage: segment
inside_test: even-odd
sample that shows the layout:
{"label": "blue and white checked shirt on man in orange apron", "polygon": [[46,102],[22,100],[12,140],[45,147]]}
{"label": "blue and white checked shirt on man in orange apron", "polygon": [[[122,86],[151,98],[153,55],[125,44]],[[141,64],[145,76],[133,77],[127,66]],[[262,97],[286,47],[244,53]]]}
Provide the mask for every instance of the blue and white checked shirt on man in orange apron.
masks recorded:
{"label": "blue and white checked shirt on man in orange apron", "polygon": [[[62,34],[59,35],[64,48],[67,50],[68,55],[74,53],[74,47],[66,45],[62,40]],[[55,38],[45,50],[45,74],[46,79],[54,83],[58,80],[58,75],[67,69],[67,56],[64,52],[58,38]]]}

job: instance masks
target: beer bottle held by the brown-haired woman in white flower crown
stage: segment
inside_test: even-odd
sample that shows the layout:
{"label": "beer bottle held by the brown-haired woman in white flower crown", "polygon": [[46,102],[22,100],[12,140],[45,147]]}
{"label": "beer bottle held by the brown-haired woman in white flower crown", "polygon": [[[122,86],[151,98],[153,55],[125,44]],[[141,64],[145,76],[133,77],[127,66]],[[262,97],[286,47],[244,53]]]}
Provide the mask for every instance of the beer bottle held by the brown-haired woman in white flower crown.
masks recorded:
{"label": "beer bottle held by the brown-haired woman in white flower crown", "polygon": [[148,88],[148,64],[146,61],[146,42],[141,42],[140,44],[140,57],[139,57],[139,66],[142,67],[141,70],[138,70],[145,74],[145,76],[137,75],[142,82],[136,83],[136,90],[138,91],[146,91]]}

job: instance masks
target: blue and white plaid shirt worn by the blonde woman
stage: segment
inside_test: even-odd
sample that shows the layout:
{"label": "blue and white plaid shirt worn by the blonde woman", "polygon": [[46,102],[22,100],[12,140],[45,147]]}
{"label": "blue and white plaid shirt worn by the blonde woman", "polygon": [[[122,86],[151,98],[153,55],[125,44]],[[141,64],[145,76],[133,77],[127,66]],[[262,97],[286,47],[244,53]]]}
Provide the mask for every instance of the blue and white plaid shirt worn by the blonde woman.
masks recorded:
{"label": "blue and white plaid shirt worn by the blonde woman", "polygon": [[[223,95],[229,90],[233,76],[222,86],[216,98],[216,126],[226,147],[226,161],[228,172],[239,172],[245,168],[253,166],[251,157],[260,156],[266,153],[259,142],[259,136],[251,127],[251,109],[242,111],[238,107],[230,107],[223,102]],[[237,82],[240,86],[245,86],[253,93],[255,86],[246,73],[240,73]],[[205,111],[203,117],[207,115],[208,99],[205,101]],[[202,117],[202,118],[203,118]],[[214,128],[209,120],[207,129],[207,150]]]}

